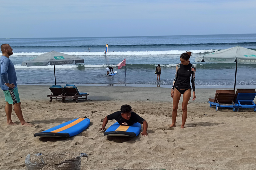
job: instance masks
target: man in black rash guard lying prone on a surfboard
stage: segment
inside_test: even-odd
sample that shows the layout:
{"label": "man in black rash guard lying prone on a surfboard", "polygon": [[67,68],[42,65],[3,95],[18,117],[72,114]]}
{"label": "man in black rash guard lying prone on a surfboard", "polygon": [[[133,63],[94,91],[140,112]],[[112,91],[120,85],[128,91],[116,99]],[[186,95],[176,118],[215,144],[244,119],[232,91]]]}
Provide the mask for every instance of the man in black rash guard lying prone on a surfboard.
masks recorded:
{"label": "man in black rash guard lying prone on a surfboard", "polygon": [[143,125],[143,131],[141,132],[141,135],[147,136],[148,123],[145,121],[145,119],[134,113],[130,105],[123,105],[121,106],[120,110],[121,111],[106,116],[103,120],[102,127],[99,128],[99,130],[106,130],[105,127],[108,121],[115,119],[119,125],[122,126],[132,126],[133,124],[139,122]]}

